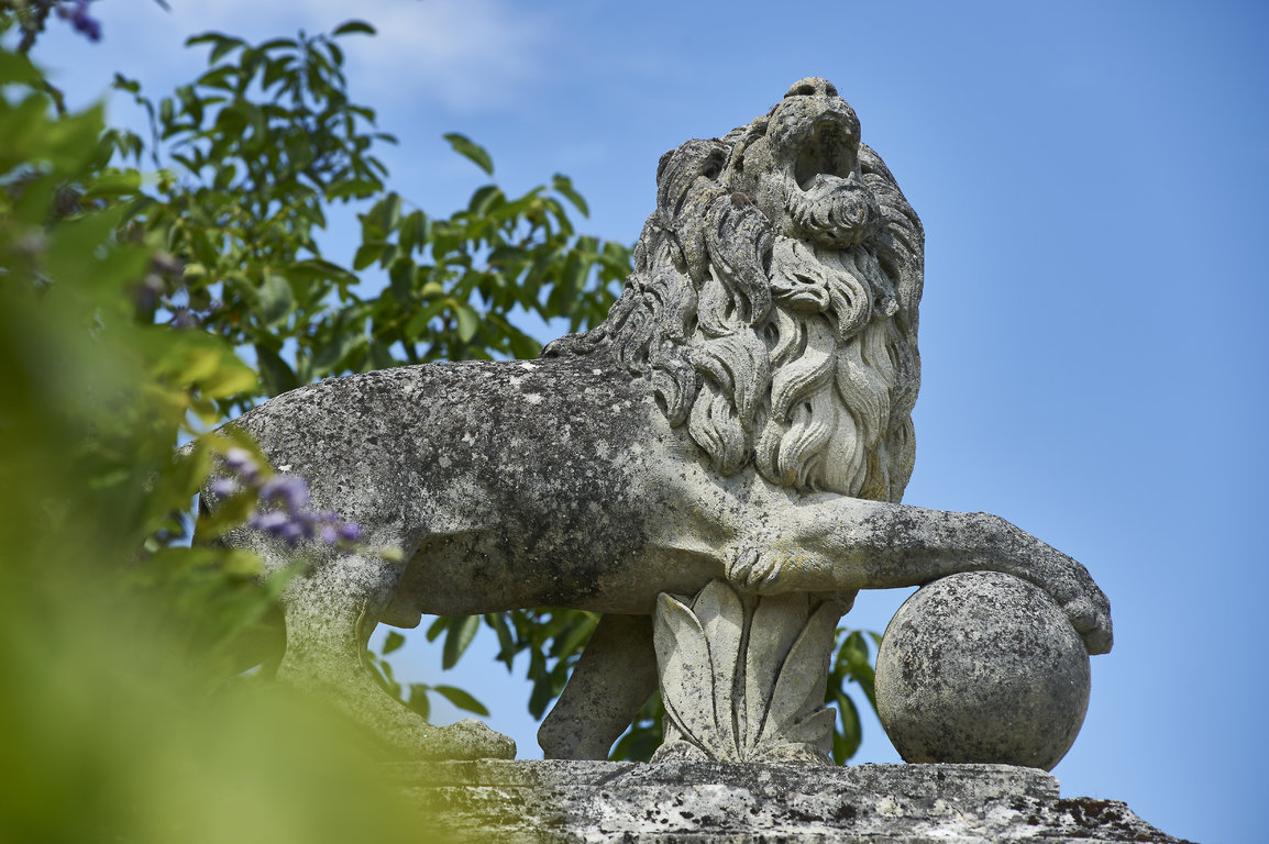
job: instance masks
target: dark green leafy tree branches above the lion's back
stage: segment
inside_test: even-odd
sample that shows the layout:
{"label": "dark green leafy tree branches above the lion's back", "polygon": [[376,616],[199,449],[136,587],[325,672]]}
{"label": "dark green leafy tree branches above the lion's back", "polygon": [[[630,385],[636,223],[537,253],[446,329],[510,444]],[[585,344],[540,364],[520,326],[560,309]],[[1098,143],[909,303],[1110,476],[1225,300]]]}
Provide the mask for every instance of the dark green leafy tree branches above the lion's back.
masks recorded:
{"label": "dark green leafy tree branches above the lion's back", "polygon": [[[388,190],[376,146],[396,138],[349,99],[343,70],[340,42],[371,33],[350,22],[256,46],[208,33],[188,42],[208,48],[208,70],[173,95],[115,80],[151,123],[148,139],[118,133],[117,148],[160,167],[129,226],[180,267],[142,316],[250,350],[259,389],[230,397],[226,414],[329,375],[536,356],[516,313],[594,324],[629,271],[626,247],[576,234],[565,203],[585,213],[585,201],[566,176],[520,196],[485,184],[449,217]],[[492,176],[482,147],[447,138]],[[319,242],[346,204],[362,209],[350,266]]]}

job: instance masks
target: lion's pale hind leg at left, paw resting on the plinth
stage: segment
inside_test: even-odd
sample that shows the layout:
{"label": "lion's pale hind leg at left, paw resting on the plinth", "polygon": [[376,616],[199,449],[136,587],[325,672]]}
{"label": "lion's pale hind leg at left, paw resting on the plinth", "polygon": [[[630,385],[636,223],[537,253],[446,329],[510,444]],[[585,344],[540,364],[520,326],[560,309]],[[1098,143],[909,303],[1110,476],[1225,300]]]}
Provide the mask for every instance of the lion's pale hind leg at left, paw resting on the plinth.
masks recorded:
{"label": "lion's pale hind leg at left, paw resting on the plinth", "polygon": [[514,758],[510,738],[473,720],[431,726],[371,677],[365,643],[400,579],[400,564],[348,555],[326,559],[292,580],[282,598],[287,646],[278,679],[334,703],[390,755]]}

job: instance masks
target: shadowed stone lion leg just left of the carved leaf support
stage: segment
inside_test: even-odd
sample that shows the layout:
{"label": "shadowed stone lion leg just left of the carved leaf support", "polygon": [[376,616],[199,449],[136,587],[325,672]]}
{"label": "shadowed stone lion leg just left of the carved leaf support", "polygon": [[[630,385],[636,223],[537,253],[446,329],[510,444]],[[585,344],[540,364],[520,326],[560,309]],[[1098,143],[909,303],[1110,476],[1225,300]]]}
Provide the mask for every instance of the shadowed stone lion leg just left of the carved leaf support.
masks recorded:
{"label": "shadowed stone lion leg just left of the carved leaf support", "polygon": [[605,615],[542,722],[547,759],[607,759],[656,689],[651,616]]}

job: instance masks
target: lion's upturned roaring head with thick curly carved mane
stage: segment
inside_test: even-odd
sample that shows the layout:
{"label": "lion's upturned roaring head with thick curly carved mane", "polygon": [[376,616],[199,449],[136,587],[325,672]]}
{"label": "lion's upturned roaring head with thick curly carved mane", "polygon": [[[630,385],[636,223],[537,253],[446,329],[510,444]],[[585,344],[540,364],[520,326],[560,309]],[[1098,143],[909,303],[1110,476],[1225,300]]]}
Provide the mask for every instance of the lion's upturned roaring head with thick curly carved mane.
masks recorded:
{"label": "lion's upturned roaring head with thick curly carved mane", "polygon": [[650,379],[716,471],[897,502],[915,457],[924,233],[821,79],[661,157],[657,207],[608,319],[544,355],[607,350]]}

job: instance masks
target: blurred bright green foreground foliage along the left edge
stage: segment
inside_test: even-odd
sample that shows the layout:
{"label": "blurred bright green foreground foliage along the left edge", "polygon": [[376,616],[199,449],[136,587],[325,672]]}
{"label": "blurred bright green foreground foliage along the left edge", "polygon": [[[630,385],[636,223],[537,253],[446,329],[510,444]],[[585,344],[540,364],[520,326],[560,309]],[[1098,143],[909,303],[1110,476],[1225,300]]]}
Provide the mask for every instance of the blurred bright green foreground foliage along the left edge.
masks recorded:
{"label": "blurred bright green foreground foliage along the left edge", "polygon": [[0,840],[425,838],[340,719],[228,668],[278,584],[169,547],[207,465],[173,451],[255,376],[137,319],[136,180],[100,109],[52,113],[0,51]]}

